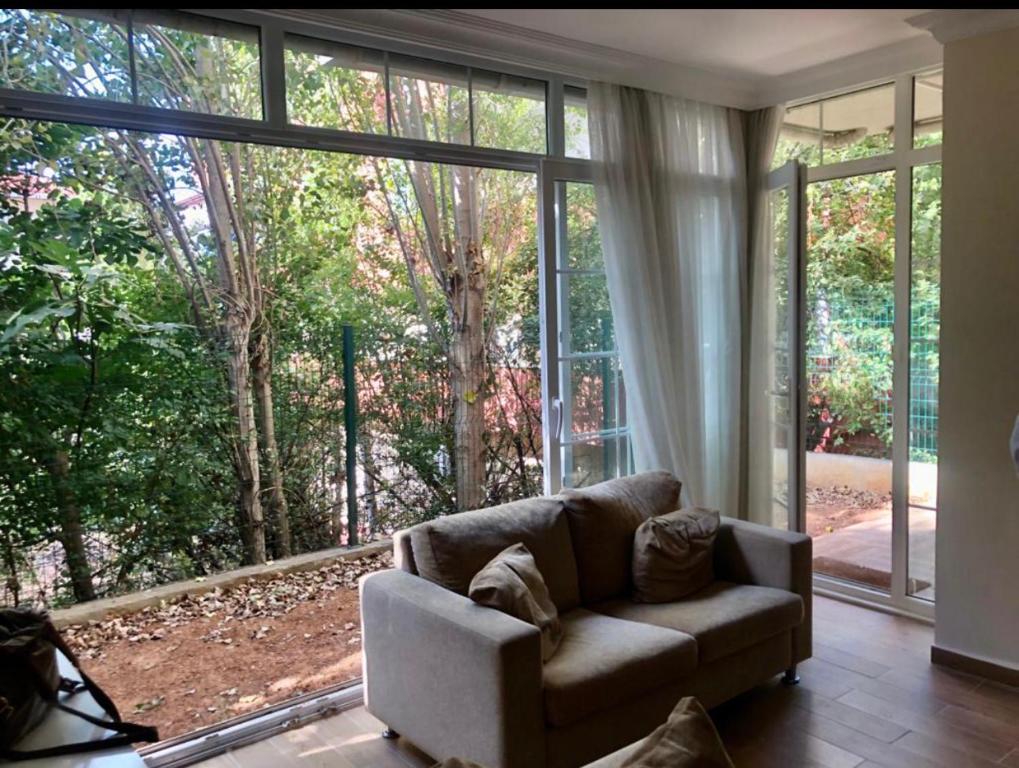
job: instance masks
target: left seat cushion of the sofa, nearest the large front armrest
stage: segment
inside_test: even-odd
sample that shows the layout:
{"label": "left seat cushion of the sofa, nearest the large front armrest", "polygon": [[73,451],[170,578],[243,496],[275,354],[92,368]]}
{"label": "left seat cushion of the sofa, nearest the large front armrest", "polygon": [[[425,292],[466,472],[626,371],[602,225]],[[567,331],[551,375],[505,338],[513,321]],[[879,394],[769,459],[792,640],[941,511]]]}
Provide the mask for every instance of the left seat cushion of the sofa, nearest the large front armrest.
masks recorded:
{"label": "left seat cushion of the sofa, nearest the large front armrest", "polygon": [[561,727],[635,699],[697,666],[689,635],[577,608],[560,616],[562,641],[544,666],[545,720]]}

